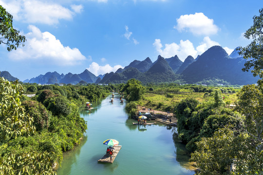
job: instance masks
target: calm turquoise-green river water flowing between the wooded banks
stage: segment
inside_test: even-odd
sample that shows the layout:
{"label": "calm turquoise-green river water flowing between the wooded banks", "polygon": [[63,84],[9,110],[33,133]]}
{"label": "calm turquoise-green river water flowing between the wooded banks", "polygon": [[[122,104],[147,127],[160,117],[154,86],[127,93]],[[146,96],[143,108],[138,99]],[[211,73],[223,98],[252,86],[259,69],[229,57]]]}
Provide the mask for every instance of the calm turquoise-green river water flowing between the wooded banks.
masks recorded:
{"label": "calm turquoise-green river water flowing between the wooded banks", "polygon": [[[80,107],[88,130],[72,151],[63,154],[58,175],[193,175],[185,146],[174,143],[176,127],[162,123],[133,125],[120,104],[118,94],[113,103],[109,96],[94,102],[91,111]],[[113,163],[97,162],[105,155],[104,140],[115,139],[122,148]]]}

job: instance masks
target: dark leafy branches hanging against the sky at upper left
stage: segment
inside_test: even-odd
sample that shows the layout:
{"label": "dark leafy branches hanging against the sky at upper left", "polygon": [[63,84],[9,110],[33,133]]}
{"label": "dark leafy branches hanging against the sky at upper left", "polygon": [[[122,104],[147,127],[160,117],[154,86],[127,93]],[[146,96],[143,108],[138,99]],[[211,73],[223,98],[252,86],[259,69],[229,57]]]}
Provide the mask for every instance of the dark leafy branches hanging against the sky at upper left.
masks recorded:
{"label": "dark leafy branches hanging against the sky at upper left", "polygon": [[13,28],[13,16],[0,5],[0,44],[6,44],[10,52],[20,44],[24,46],[25,41],[25,36],[19,35],[19,31]]}

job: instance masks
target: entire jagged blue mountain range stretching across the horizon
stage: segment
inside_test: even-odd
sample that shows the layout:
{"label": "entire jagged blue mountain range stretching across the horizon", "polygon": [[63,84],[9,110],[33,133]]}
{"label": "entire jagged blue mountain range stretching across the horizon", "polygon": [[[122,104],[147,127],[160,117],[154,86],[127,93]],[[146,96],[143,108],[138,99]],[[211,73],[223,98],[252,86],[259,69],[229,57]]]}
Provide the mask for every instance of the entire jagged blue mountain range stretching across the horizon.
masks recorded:
{"label": "entire jagged blue mountain range stretching across the horizon", "polygon": [[96,84],[126,83],[135,78],[142,83],[176,82],[196,83],[207,79],[221,79],[232,85],[246,85],[256,83],[258,77],[253,77],[251,72],[243,72],[245,59],[235,49],[228,55],[221,46],[213,46],[196,59],[188,56],[182,62],[177,55],[170,58],[158,56],[155,62],[149,57],[143,61],[134,60],[124,69],[116,72],[95,76],[89,70],[80,74],[59,74],[47,72],[35,78],[27,79],[25,83],[40,84],[77,84],[80,81]]}

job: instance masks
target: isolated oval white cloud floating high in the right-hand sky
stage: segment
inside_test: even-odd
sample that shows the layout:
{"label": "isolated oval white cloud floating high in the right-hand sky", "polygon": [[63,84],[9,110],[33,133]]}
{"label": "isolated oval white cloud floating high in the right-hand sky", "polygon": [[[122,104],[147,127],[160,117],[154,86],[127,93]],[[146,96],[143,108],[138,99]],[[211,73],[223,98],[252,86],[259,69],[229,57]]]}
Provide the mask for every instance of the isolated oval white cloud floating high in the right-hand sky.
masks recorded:
{"label": "isolated oval white cloud floating high in the right-hand sky", "polygon": [[179,32],[189,31],[194,35],[213,35],[219,30],[214,24],[214,20],[207,18],[203,13],[182,15],[179,19],[176,19],[176,21],[177,26],[173,28]]}

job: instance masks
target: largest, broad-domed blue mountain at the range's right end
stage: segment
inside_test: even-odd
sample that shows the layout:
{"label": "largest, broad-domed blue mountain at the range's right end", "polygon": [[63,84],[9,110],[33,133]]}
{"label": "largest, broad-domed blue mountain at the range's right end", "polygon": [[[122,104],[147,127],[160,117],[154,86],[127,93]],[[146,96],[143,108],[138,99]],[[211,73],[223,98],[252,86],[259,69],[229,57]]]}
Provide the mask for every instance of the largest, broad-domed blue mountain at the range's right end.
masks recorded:
{"label": "largest, broad-domed blue mountain at the range's right end", "polygon": [[219,78],[232,85],[246,85],[257,82],[251,72],[243,72],[245,60],[242,57],[230,58],[221,46],[213,46],[183,72],[184,80],[195,83],[207,78]]}

